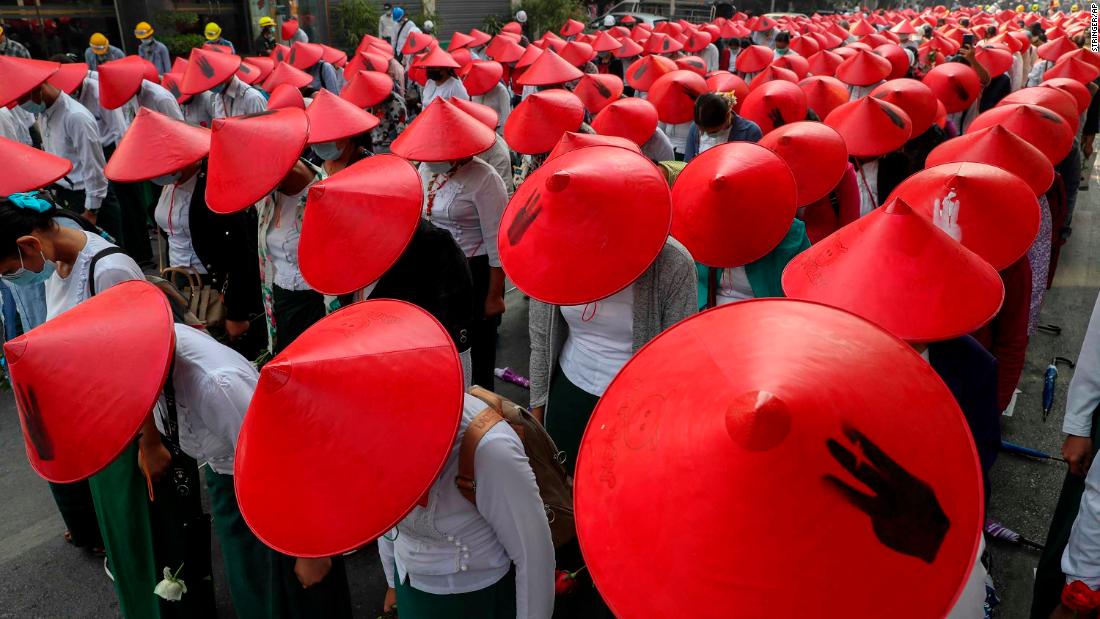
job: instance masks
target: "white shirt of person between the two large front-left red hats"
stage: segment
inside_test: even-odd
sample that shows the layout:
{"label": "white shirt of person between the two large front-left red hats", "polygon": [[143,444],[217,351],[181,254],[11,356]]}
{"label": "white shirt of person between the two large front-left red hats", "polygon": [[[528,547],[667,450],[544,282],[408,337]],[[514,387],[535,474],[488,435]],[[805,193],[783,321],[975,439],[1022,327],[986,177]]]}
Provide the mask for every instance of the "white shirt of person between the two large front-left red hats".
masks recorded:
{"label": "white shirt of person between the two large front-left red hats", "polygon": [[[172,385],[179,422],[179,449],[210,463],[215,473],[233,474],[233,452],[244,413],[256,390],[260,373],[240,353],[218,343],[209,333],[175,324],[176,354]],[[162,397],[153,416],[166,433],[167,409]]]}

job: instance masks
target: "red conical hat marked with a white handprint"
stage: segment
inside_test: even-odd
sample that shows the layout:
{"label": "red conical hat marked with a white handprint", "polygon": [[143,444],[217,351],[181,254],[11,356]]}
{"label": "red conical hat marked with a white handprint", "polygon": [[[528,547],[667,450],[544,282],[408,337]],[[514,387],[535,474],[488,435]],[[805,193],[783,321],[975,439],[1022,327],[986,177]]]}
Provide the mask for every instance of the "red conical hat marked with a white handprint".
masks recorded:
{"label": "red conical hat marked with a white handprint", "polygon": [[1000,270],[1027,253],[1038,233],[1035,192],[1019,176],[970,162],[943,164],[906,178],[887,201],[900,198],[926,219],[934,201],[958,198],[961,243]]}

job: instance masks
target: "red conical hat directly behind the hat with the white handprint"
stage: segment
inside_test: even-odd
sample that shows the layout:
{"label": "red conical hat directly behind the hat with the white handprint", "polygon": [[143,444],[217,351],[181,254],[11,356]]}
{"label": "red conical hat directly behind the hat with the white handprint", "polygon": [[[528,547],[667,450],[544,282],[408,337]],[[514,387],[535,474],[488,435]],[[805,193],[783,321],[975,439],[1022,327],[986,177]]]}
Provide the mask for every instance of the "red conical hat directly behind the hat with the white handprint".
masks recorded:
{"label": "red conical hat directly behind the hat with the white handprint", "polygon": [[1046,194],[1054,183],[1054,166],[1046,155],[999,124],[944,142],[928,153],[925,165],[956,162],[989,164],[1011,172],[1036,196]]}

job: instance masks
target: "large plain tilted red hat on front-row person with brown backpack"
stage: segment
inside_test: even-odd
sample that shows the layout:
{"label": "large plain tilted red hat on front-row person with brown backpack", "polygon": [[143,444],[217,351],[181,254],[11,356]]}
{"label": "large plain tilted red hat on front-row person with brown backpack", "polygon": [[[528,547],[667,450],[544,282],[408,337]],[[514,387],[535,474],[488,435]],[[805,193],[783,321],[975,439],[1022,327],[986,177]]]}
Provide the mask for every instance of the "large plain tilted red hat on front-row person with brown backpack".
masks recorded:
{"label": "large plain tilted red hat on front-row person with brown backpack", "polygon": [[322,318],[260,374],[233,463],[241,515],[285,554],[362,546],[435,484],[462,402],[458,352],[428,312],[377,299]]}

